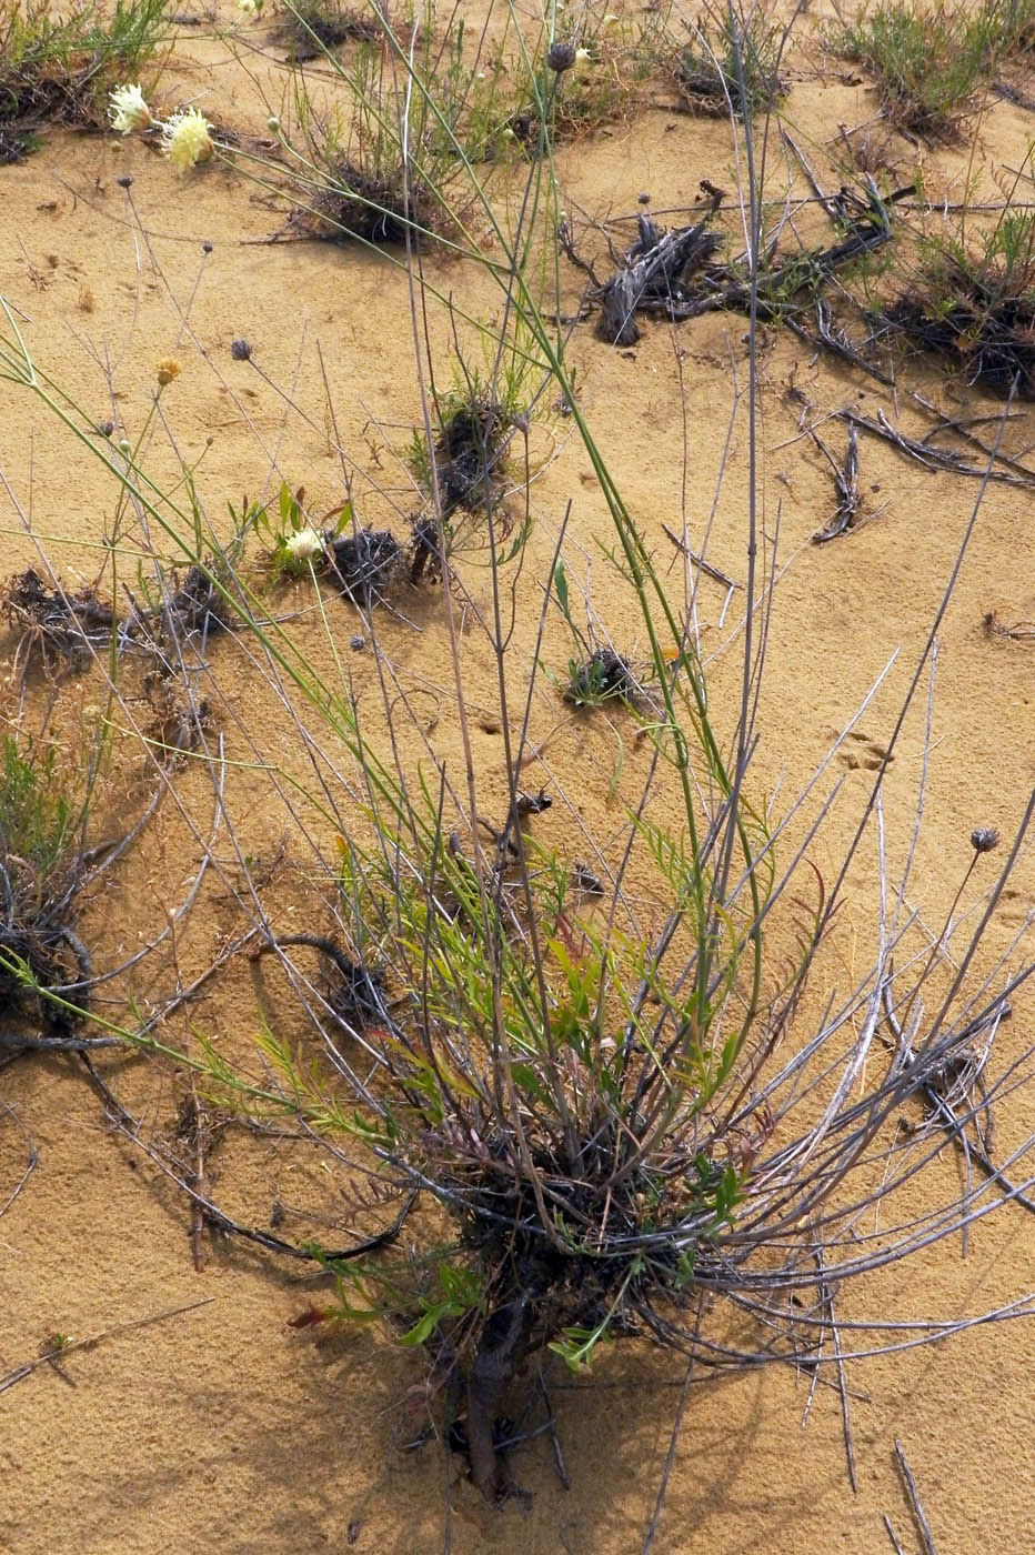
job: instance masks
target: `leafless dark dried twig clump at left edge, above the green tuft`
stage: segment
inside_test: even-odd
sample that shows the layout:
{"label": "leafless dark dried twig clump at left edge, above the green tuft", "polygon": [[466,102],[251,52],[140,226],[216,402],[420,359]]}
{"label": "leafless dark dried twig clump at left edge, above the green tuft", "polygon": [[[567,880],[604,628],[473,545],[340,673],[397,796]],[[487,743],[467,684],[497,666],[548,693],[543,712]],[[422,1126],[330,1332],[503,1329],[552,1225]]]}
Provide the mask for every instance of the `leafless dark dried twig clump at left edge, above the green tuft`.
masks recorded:
{"label": "leafless dark dried twig clump at left edge, above the green tuft", "polygon": [[93,589],[68,592],[57,580],[48,588],[33,568],[9,580],[0,608],[19,636],[16,670],[36,658],[51,676],[84,669],[118,627],[110,603]]}

